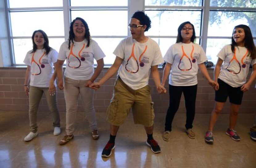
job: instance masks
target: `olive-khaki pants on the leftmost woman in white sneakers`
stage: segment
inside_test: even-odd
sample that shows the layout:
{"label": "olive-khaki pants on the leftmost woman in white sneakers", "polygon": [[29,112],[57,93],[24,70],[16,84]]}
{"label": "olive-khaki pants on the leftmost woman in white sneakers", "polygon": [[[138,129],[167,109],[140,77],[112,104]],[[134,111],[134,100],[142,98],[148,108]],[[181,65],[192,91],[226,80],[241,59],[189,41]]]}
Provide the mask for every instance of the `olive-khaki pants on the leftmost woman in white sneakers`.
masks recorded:
{"label": "olive-khaki pants on the leftmost woman in white sneakers", "polygon": [[37,132],[37,111],[40,100],[43,96],[43,93],[46,97],[48,107],[52,112],[53,117],[53,127],[60,127],[60,114],[57,108],[57,93],[53,96],[50,96],[49,88],[40,88],[30,86],[29,88],[29,126],[30,131],[33,133]]}

